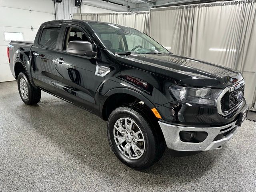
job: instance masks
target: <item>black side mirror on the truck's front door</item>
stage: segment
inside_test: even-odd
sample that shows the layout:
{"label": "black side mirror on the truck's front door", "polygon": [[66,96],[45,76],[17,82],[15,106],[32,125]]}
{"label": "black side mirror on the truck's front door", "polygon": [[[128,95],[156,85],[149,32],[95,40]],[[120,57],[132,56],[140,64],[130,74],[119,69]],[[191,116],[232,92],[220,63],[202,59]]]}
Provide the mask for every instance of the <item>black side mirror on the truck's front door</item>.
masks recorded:
{"label": "black side mirror on the truck's front door", "polygon": [[70,41],[68,42],[67,52],[70,54],[95,57],[97,52],[92,50],[92,44],[88,41]]}

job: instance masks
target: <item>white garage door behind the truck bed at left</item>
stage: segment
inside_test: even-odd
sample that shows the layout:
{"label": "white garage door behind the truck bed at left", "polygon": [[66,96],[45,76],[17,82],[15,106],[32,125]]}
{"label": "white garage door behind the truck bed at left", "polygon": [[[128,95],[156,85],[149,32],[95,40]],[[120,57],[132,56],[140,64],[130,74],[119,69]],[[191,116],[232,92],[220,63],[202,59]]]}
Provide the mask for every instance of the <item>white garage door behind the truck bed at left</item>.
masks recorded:
{"label": "white garage door behind the truck bed at left", "polygon": [[0,82],[14,80],[6,54],[9,39],[34,41],[40,25],[55,19],[53,12],[52,0],[0,0]]}

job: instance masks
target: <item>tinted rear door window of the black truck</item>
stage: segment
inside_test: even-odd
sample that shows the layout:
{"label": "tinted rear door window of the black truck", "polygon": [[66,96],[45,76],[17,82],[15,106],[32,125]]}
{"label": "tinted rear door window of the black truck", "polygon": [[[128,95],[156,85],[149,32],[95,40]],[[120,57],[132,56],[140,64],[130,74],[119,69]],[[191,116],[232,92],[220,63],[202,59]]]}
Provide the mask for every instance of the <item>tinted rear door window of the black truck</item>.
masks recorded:
{"label": "tinted rear door window of the black truck", "polygon": [[60,27],[44,28],[41,35],[40,44],[45,47],[56,48],[59,33]]}

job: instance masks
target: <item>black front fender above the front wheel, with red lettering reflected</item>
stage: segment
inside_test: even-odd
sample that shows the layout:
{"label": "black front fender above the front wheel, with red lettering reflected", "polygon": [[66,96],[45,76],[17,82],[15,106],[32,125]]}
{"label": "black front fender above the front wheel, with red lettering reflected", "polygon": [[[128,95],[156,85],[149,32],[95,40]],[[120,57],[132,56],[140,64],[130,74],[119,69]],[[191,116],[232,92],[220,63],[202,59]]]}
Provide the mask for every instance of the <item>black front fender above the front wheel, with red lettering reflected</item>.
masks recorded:
{"label": "black front fender above the front wheel, with red lettering reflected", "polygon": [[[102,117],[106,100],[118,93],[134,96],[150,109],[173,100],[168,91],[168,86],[172,82],[164,78],[136,69],[122,70],[111,75],[110,78],[102,81],[96,91],[94,111],[100,117]],[[100,80],[97,79],[97,81]]]}

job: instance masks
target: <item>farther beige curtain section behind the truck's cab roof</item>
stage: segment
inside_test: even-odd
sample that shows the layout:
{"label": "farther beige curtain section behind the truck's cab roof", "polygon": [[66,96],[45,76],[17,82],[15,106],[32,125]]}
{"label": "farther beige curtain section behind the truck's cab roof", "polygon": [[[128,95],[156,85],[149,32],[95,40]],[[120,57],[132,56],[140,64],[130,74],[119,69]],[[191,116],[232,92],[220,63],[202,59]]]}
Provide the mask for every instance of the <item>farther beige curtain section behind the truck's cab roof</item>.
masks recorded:
{"label": "farther beige curtain section behind the truck's cab roof", "polygon": [[74,19],[109,22],[148,33],[149,12],[82,13],[74,14]]}

